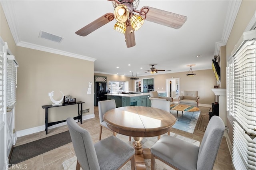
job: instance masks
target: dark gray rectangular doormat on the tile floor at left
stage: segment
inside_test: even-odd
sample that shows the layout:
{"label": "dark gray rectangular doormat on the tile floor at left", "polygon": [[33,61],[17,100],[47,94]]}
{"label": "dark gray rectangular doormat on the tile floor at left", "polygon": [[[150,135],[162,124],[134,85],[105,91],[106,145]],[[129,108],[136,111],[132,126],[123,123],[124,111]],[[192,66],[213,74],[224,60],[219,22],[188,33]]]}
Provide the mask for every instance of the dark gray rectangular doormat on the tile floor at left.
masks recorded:
{"label": "dark gray rectangular doormat on the tile floor at left", "polygon": [[15,146],[12,150],[9,164],[18,164],[70,142],[72,142],[70,133],[69,131],[65,131],[20,146]]}

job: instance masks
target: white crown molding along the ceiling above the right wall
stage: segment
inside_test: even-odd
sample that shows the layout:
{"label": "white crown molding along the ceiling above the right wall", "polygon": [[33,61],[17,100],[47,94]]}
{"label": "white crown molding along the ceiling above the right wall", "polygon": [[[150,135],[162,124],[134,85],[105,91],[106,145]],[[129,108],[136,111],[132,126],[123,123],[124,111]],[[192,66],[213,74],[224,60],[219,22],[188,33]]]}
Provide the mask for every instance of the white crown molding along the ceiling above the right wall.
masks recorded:
{"label": "white crown molding along the ceiling above the right wall", "polygon": [[220,47],[226,45],[230,32],[234,26],[236,16],[238,14],[242,0],[232,0],[229,2],[226,20],[224,23],[224,29],[222,32],[222,38],[220,42],[215,43],[214,55],[219,55]]}

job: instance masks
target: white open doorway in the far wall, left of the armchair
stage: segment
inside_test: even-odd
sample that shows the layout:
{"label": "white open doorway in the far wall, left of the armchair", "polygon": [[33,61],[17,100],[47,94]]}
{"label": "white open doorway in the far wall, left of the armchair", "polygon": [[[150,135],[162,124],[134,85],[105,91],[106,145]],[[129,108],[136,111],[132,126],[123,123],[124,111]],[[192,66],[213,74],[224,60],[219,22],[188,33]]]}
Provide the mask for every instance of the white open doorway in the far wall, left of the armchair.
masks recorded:
{"label": "white open doorway in the far wall, left of the armchair", "polygon": [[178,100],[180,96],[180,78],[166,79],[166,95]]}

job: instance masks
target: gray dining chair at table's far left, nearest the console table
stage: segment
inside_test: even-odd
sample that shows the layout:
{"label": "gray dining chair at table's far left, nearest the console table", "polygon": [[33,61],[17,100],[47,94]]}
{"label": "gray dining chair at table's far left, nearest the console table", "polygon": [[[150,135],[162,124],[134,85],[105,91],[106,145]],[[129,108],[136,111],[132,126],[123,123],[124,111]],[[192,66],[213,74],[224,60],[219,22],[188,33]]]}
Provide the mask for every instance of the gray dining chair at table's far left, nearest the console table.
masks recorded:
{"label": "gray dining chair at table's far left, nearest the console table", "polygon": [[[99,140],[101,140],[101,134],[102,134],[102,127],[107,128],[108,130],[113,132],[113,135],[116,136],[116,132],[111,130],[107,123],[104,121],[103,116],[104,114],[111,110],[116,108],[116,101],[114,99],[112,100],[104,100],[98,102],[98,108],[99,108],[99,119],[100,119],[100,137]],[[131,136],[129,136],[129,141],[131,141]]]}

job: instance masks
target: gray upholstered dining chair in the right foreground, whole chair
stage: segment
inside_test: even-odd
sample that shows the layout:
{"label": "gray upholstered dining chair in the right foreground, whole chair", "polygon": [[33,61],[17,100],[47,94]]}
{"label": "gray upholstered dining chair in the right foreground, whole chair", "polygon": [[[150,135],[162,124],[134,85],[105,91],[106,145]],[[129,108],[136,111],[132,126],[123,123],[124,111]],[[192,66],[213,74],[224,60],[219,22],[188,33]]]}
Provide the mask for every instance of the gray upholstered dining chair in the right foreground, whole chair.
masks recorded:
{"label": "gray upholstered dining chair in the right foreground, whole chair", "polygon": [[213,116],[200,146],[173,136],[162,136],[151,148],[151,170],[154,170],[155,158],[175,169],[212,170],[224,131],[222,119]]}

